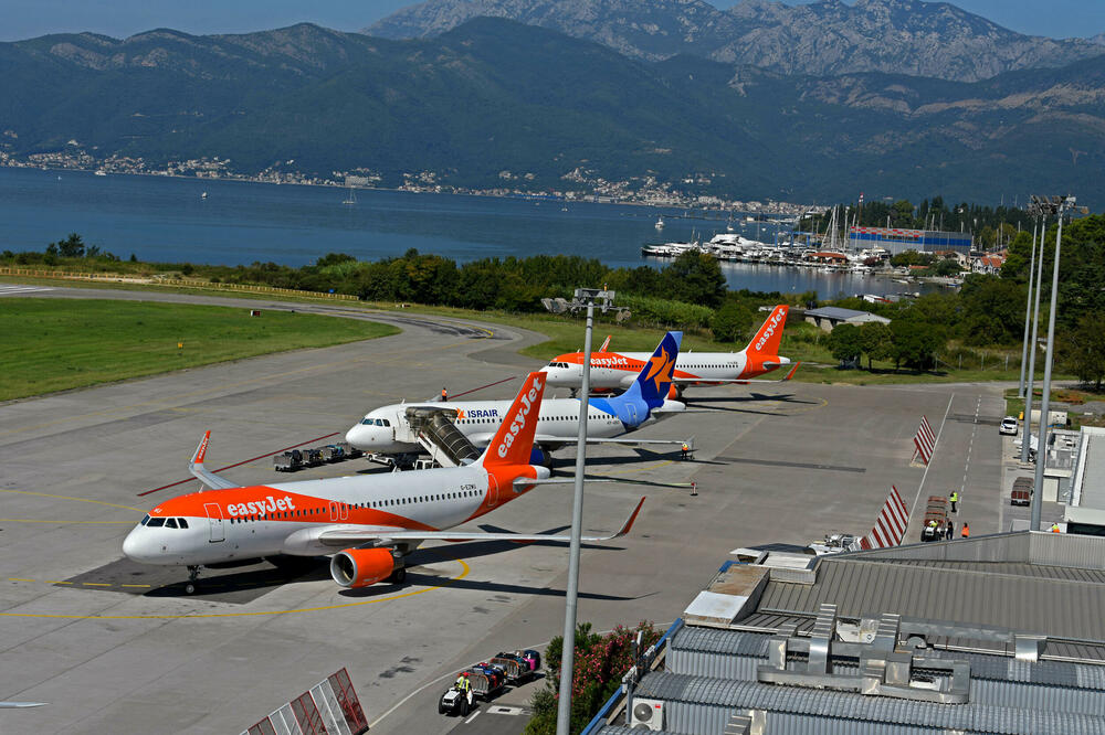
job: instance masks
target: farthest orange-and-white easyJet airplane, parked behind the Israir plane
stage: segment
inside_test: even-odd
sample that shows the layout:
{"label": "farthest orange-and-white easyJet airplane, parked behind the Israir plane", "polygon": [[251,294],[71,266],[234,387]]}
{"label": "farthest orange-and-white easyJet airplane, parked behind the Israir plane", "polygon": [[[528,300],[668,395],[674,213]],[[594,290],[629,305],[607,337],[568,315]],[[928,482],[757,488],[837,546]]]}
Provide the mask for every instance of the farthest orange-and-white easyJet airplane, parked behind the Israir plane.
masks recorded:
{"label": "farthest orange-and-white easyJet airplane, parked behind the Israir plane", "polygon": [[[779,341],[787,323],[787,312],[790,307],[779,305],[764,321],[751,342],[740,352],[683,352],[675,362],[672,383],[675,395],[680,398],[688,385],[717,385],[723,383],[775,383],[778,381],[757,381],[764,375],[789,365],[788,358],[779,356]],[[609,340],[607,340],[607,343]],[[591,353],[590,384],[592,390],[611,390],[629,385],[630,381],[649,359],[644,352],[609,352],[603,350]],[[798,365],[794,363],[782,380],[789,381]],[[570,352],[552,358],[541,372],[549,376],[549,385],[569,387],[578,391],[583,377],[583,353]]]}

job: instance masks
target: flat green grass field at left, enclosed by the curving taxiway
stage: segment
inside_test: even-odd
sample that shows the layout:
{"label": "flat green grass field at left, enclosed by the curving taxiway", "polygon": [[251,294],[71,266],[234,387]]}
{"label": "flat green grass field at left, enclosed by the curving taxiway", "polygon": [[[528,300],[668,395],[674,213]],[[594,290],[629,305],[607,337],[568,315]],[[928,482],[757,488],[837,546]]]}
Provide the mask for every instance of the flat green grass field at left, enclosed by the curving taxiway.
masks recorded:
{"label": "flat green grass field at left, enclosed by the curving taxiway", "polygon": [[[0,299],[0,401],[394,334],[351,319],[176,303]],[[179,347],[178,347],[179,345]]]}

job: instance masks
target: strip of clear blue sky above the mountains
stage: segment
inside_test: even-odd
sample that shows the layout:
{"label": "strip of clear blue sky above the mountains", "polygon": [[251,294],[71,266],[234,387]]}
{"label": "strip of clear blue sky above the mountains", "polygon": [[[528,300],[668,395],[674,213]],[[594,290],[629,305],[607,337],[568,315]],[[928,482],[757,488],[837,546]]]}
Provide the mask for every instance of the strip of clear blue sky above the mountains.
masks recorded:
{"label": "strip of clear blue sky above the mountains", "polygon": [[[719,8],[734,0],[712,0]],[[852,0],[849,0],[851,2]],[[0,41],[95,31],[123,38],[152,28],[187,33],[244,33],[311,21],[356,31],[412,0],[0,0]],[[796,4],[790,2],[790,4]],[[958,0],[1021,33],[1054,38],[1105,32],[1103,0]]]}

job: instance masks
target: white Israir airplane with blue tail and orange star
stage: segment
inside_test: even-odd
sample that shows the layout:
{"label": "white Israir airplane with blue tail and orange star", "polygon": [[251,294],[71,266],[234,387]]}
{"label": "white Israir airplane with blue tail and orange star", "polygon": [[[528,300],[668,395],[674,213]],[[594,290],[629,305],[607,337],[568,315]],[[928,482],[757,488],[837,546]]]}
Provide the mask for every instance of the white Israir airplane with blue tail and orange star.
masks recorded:
{"label": "white Israir airplane with blue tail and orange star", "polygon": [[[664,439],[614,439],[644,424],[682,412],[685,405],[666,398],[672,386],[672,370],[678,358],[683,332],[669,332],[652,355],[644,355],[624,393],[611,398],[591,398],[588,407],[588,441],[613,444],[682,444]],[[550,451],[575,444],[581,402],[578,398],[549,398],[541,404],[537,419],[532,461],[547,464]],[[427,439],[430,419],[441,416],[476,447],[486,446],[499,419],[506,415],[507,401],[453,401],[449,403],[397,403],[376,408],[346,433],[346,441],[377,455],[438,455],[438,447]],[[445,427],[448,428],[448,427]],[[425,444],[420,444],[420,440]],[[438,441],[436,444],[441,444]],[[457,464],[457,462],[453,462]]]}

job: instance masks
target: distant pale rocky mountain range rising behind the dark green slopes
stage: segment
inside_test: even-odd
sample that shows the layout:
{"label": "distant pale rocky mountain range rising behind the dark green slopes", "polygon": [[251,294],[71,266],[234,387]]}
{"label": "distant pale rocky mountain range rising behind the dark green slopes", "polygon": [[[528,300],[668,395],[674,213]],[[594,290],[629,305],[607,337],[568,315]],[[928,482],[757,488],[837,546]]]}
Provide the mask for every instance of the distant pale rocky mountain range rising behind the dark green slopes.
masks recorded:
{"label": "distant pale rocky mountain range rising behind the dark green slopes", "polygon": [[782,74],[885,72],[961,82],[1065,66],[1103,53],[1105,36],[1023,35],[923,0],[741,0],[725,11],[704,0],[429,0],[365,32],[424,39],[478,17],[539,25],[648,61],[692,54]]}

